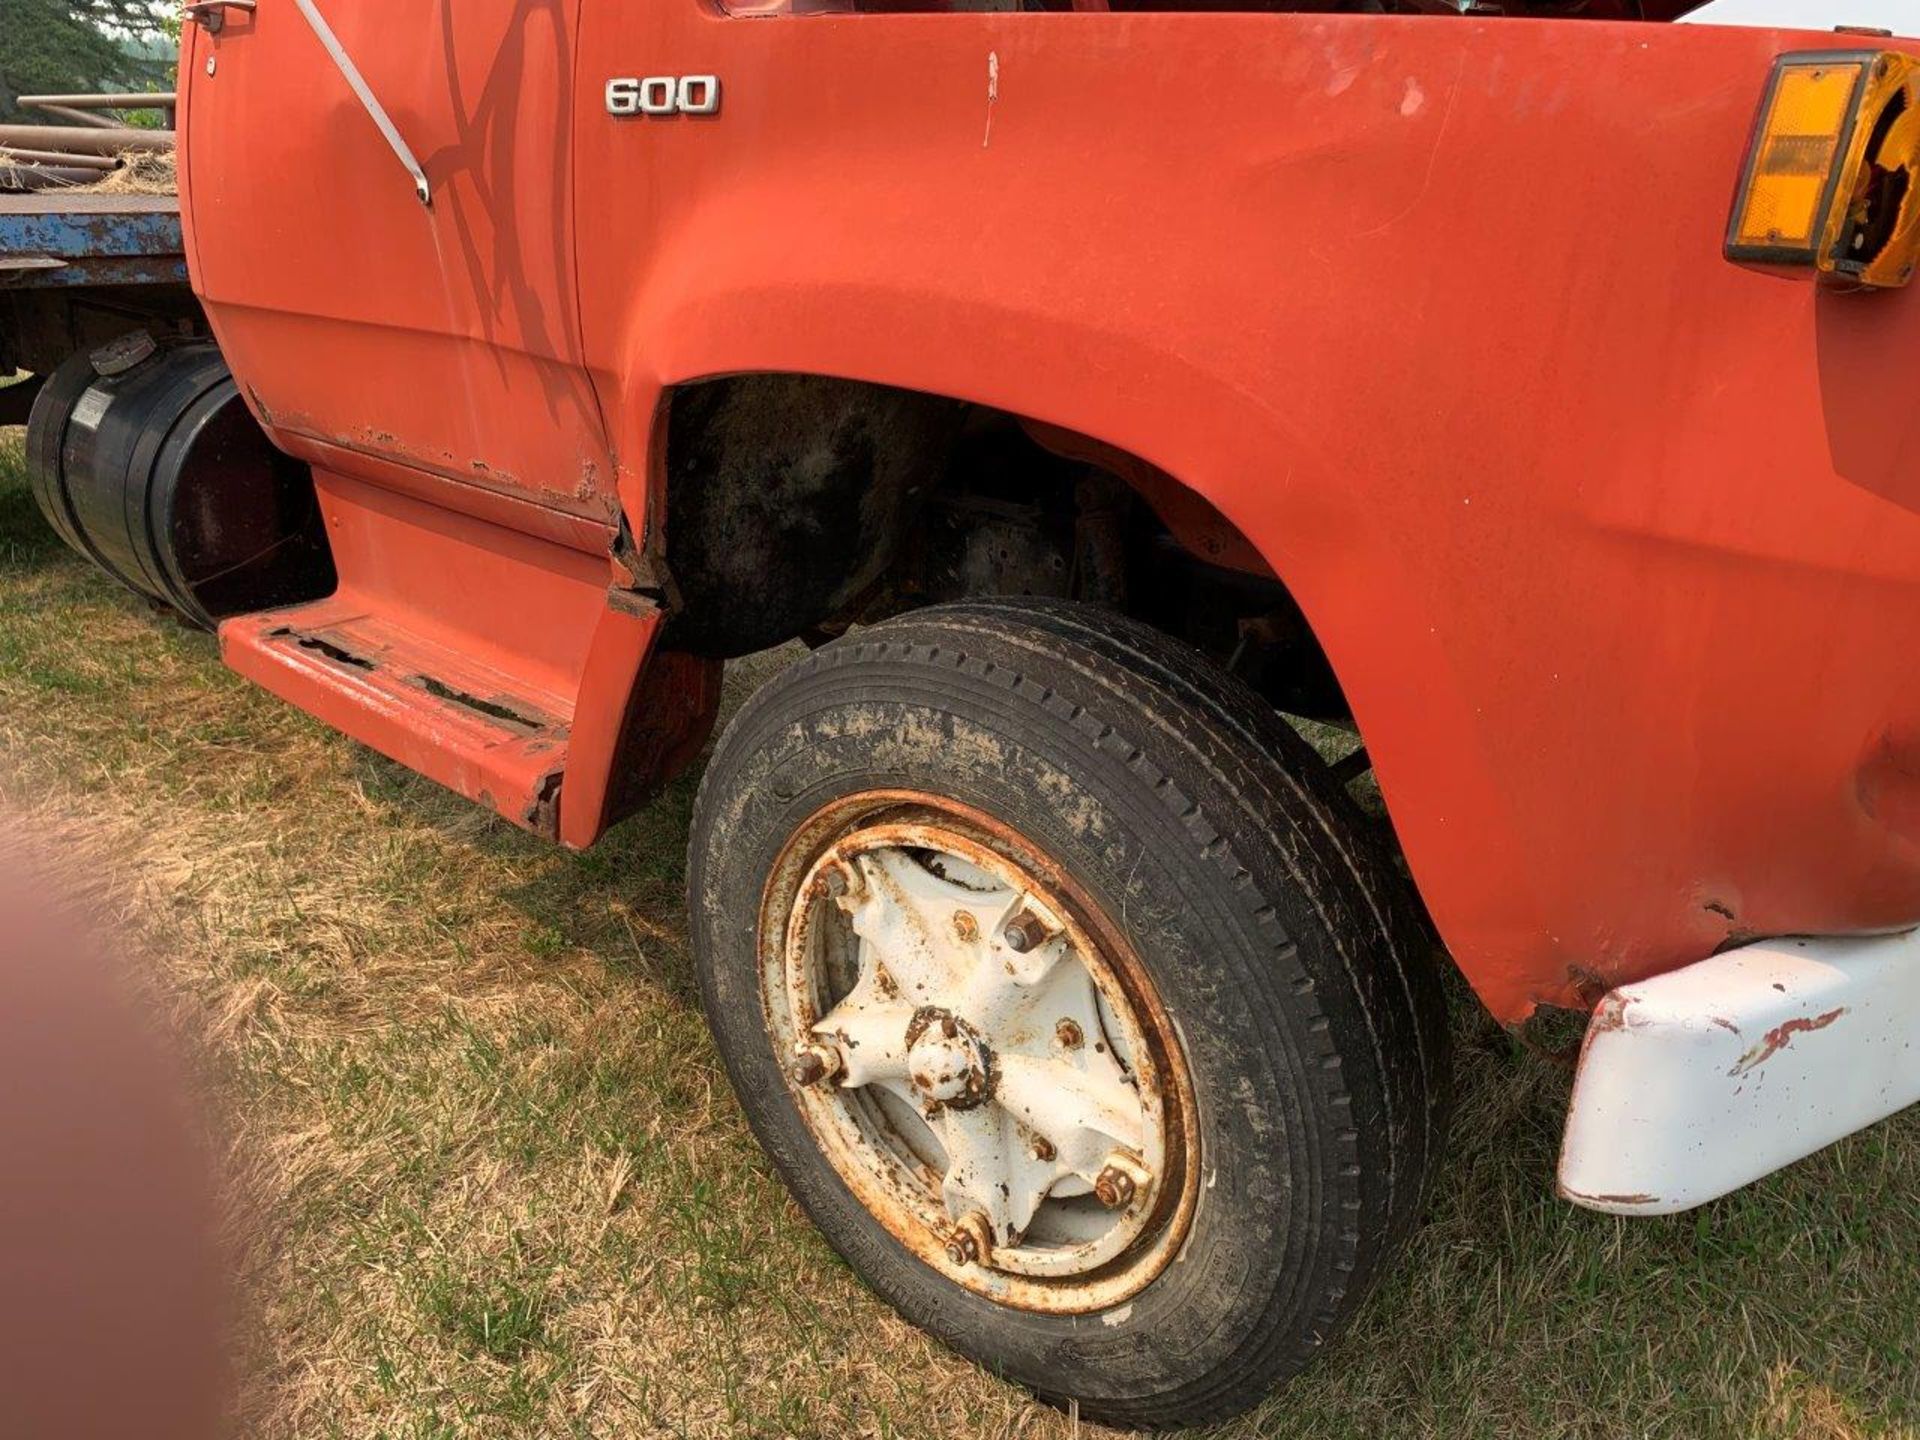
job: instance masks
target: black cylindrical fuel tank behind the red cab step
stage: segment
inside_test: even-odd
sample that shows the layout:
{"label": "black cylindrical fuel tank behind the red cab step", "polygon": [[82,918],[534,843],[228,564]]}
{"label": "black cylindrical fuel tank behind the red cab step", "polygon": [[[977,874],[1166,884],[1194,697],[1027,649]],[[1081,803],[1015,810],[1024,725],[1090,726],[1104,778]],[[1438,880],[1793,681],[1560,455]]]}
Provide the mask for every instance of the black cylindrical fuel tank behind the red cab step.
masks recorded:
{"label": "black cylindrical fuel tank behind the red cab step", "polygon": [[194,624],[334,588],[307,467],[269,444],[213,346],[134,334],[75,355],[35,397],[27,465],[73,549]]}

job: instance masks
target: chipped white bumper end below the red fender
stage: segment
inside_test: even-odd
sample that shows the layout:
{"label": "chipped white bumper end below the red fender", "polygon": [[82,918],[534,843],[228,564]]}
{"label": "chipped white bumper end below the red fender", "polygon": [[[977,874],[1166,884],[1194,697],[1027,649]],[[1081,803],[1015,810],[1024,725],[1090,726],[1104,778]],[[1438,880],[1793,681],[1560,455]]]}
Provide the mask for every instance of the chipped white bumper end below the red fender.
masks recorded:
{"label": "chipped white bumper end below the red fender", "polygon": [[1559,1190],[1667,1215],[1920,1102],[1920,931],[1764,941],[1594,1012]]}

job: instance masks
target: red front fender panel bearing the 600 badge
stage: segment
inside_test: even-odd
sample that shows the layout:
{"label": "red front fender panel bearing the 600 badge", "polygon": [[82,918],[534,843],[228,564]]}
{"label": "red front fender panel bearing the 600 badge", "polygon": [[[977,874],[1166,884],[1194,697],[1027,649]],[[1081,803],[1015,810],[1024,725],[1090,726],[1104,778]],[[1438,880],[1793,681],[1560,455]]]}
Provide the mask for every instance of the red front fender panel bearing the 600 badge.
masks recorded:
{"label": "red front fender panel bearing the 600 badge", "polygon": [[[1920,298],[1720,255],[1768,65],[1853,38],[1375,15],[589,4],[586,353],[1066,426],[1206,495],[1325,643],[1517,1020],[1920,920]],[[712,117],[601,81],[714,73]]]}

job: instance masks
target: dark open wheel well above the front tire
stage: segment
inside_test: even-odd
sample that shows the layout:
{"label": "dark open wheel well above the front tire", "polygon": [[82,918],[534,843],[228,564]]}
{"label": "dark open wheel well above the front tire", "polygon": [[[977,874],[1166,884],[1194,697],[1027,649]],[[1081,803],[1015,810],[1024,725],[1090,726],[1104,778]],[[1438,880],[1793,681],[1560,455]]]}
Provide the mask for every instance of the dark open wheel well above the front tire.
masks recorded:
{"label": "dark open wheel well above the front tire", "polygon": [[987,405],[818,374],[680,386],[666,419],[674,649],[732,659],[979,595],[1087,599],[1275,707],[1350,712],[1286,586],[1146,461]]}

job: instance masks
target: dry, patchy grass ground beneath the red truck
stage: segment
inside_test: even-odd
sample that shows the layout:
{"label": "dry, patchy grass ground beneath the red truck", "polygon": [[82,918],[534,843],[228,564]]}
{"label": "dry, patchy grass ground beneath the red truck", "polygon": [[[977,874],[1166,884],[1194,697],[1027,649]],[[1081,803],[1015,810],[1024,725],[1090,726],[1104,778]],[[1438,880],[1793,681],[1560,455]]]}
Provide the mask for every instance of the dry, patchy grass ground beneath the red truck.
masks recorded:
{"label": "dry, patchy grass ground beneath the red truck", "polygon": [[[549,849],[228,676],[4,449],[0,804],[209,1075],[248,1434],[1073,1432],[874,1300],[758,1156],[687,970],[691,780]],[[1409,1263],[1221,1434],[1914,1434],[1920,1117],[1622,1223],[1551,1196],[1565,1081],[1457,1033]]]}

